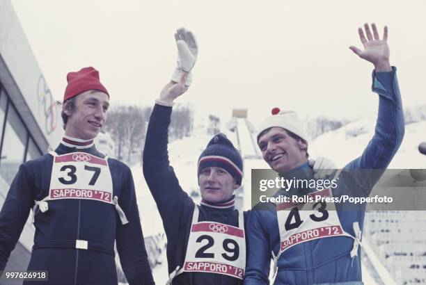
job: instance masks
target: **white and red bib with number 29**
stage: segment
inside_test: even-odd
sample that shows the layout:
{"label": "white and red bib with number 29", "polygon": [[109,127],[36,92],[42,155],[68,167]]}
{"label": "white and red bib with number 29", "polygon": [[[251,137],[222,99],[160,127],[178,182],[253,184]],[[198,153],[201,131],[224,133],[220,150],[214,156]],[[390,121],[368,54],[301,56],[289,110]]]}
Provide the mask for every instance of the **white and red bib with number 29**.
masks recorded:
{"label": "white and red bib with number 29", "polygon": [[220,222],[198,222],[198,206],[194,207],[191,232],[184,266],[176,268],[167,284],[182,272],[210,272],[243,279],[246,269],[244,215],[238,211],[238,227]]}

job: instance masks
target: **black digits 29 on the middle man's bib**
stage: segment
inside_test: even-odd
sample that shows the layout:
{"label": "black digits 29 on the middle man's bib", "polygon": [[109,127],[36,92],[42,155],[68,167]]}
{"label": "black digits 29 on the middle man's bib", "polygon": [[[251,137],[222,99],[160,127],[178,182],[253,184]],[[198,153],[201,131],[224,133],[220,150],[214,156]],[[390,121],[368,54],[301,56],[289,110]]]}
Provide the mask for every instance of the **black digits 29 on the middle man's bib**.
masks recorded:
{"label": "black digits 29 on the middle man's bib", "polygon": [[[197,238],[196,243],[202,243],[203,241],[207,241],[207,244],[203,245],[202,247],[200,247],[199,250],[197,250],[196,257],[214,259],[214,253],[207,252],[207,250],[209,250],[210,247],[214,245],[214,239],[212,238],[212,236],[207,236],[207,234],[204,234],[203,236],[199,236]],[[228,261],[236,261],[238,259],[239,245],[236,241],[230,238],[225,238],[223,240],[222,247],[223,247],[223,250],[226,251],[223,254],[221,254],[221,256],[224,259]]]}

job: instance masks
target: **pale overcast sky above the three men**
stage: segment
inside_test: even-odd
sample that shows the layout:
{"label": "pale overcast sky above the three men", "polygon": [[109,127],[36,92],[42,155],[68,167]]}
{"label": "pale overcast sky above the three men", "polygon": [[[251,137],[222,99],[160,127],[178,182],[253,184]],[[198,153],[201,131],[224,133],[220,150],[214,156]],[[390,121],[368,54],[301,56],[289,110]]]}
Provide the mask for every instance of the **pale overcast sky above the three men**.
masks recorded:
{"label": "pale overcast sky above the three men", "polygon": [[173,33],[194,31],[194,82],[179,101],[223,120],[248,108],[258,125],[270,108],[301,116],[374,117],[372,65],[357,28],[389,27],[390,61],[404,106],[426,104],[426,1],[12,0],[47,83],[62,100],[67,72],[100,70],[111,104],[152,105],[175,68]]}

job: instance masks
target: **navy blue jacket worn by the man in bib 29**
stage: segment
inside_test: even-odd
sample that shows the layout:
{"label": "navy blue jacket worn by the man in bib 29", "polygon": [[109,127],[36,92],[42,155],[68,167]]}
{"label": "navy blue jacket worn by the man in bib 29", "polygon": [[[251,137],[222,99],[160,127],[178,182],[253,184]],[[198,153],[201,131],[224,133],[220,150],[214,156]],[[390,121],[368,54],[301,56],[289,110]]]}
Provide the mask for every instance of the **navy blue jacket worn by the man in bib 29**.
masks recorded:
{"label": "navy blue jacket worn by the man in bib 29", "polygon": [[[166,231],[169,273],[177,266],[183,266],[195,206],[191,197],[180,187],[168,161],[168,126],[171,122],[171,111],[171,107],[155,105],[143,149],[143,174],[157,203]],[[214,209],[201,205],[199,217],[198,221],[209,220],[238,226],[238,211],[233,206],[228,209]],[[242,284],[242,280],[215,273],[184,272],[173,279],[173,285],[175,284]]]}

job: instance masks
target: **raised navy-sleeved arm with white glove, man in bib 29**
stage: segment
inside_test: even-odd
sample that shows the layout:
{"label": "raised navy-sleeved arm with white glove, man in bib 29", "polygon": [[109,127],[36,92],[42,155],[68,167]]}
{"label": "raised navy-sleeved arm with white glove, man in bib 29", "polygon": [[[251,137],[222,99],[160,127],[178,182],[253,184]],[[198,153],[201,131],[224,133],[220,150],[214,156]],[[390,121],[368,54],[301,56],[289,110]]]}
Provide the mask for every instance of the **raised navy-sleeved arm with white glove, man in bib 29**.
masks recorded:
{"label": "raised navy-sleeved arm with white glove, man in bib 29", "polygon": [[[143,149],[143,174],[157,203],[167,236],[178,233],[179,229],[182,229],[179,221],[184,222],[180,217],[184,213],[191,213],[194,209],[194,202],[180,187],[168,161],[168,126],[171,122],[173,101],[188,90],[187,72],[190,70],[186,68],[190,64],[187,60],[194,60],[189,54],[182,56],[187,52],[191,53],[191,49],[184,46],[187,43],[186,39],[189,39],[188,46],[194,44],[194,35],[186,29],[179,29],[175,38],[179,51],[178,69],[173,74],[172,81],[164,86],[159,99],[156,100],[148,122]],[[181,74],[178,82],[175,82],[176,74]]]}

